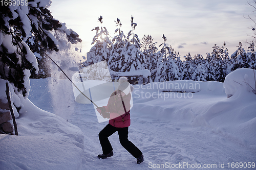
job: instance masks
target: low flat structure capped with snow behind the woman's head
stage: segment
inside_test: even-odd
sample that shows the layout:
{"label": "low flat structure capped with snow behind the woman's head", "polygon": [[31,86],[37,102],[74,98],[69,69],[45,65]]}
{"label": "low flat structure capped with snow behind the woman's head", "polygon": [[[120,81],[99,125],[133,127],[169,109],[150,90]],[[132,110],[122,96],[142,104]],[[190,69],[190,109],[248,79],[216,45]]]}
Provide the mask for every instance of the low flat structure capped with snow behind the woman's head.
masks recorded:
{"label": "low flat structure capped with snow behind the woman's head", "polygon": [[128,78],[142,77],[143,84],[147,84],[151,82],[151,79],[150,79],[151,72],[148,69],[127,71],[127,72],[115,72],[111,70],[110,75],[112,77],[112,80],[115,80],[116,78],[119,79],[120,77],[128,77]]}

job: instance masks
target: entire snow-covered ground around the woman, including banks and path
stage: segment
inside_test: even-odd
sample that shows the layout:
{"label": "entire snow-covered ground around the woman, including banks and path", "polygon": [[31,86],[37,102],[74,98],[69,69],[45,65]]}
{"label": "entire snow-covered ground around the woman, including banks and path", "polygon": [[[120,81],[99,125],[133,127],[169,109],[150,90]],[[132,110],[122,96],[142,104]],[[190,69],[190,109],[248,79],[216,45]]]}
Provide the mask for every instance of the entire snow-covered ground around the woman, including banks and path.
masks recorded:
{"label": "entire snow-covered ground around the woman, including banks and path", "polygon": [[134,85],[129,139],[143,152],[141,164],[117,133],[114,156],[98,159],[108,122],[98,123],[92,104],[75,102],[68,80],[32,79],[28,99],[40,109],[26,101],[19,136],[0,135],[0,169],[255,169],[256,95],[244,74],[239,86],[232,77],[230,98],[219,82]]}

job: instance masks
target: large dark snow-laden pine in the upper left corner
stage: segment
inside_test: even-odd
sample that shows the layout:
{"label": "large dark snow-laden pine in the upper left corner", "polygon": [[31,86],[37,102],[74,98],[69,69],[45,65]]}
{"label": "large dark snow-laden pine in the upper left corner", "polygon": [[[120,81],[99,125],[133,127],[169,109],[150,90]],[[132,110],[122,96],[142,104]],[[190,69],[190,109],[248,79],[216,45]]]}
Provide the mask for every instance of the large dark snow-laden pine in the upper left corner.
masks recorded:
{"label": "large dark snow-laden pine in the upper left corner", "polygon": [[61,24],[47,9],[50,3],[31,0],[24,6],[0,6],[0,76],[25,99],[30,89],[29,70],[38,71],[36,57],[25,43],[30,32],[38,38],[40,45],[58,51],[57,41],[50,31],[60,29]]}

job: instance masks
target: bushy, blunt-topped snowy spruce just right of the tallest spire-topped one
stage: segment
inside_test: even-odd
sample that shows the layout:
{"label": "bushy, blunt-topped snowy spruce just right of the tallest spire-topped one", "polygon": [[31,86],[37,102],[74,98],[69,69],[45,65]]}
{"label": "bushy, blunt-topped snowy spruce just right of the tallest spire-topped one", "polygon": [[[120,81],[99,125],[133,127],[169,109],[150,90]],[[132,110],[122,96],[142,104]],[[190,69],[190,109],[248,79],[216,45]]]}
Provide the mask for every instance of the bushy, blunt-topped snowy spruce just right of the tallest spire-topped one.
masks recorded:
{"label": "bushy, blunt-topped snowy spruce just right of the tallest spire-topped one", "polygon": [[153,42],[153,38],[151,35],[147,35],[142,38],[140,50],[145,55],[146,64],[145,68],[150,70],[152,73],[152,80],[155,79],[156,68],[157,68],[157,50],[156,47],[157,42]]}

